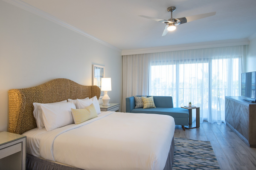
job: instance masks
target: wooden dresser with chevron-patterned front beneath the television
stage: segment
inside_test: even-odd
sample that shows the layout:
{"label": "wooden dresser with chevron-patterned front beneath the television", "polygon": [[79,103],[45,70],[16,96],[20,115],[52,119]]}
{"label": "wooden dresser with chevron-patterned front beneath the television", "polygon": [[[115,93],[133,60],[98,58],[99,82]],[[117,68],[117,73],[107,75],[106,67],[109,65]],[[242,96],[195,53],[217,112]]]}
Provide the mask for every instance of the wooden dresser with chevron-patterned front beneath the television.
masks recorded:
{"label": "wooden dresser with chevron-patterned front beneath the television", "polygon": [[250,147],[256,147],[256,103],[241,96],[226,96],[227,125]]}

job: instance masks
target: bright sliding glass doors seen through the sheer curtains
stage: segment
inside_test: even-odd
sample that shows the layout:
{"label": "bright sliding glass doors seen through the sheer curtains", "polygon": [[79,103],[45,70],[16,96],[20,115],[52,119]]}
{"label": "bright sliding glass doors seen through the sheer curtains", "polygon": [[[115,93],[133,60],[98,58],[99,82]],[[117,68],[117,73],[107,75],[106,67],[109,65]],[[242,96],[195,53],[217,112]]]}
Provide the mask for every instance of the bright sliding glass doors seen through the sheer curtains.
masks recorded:
{"label": "bright sliding glass doors seen through the sheer curtains", "polygon": [[149,95],[172,96],[175,107],[192,102],[202,120],[223,122],[225,96],[239,96],[239,58],[154,61],[149,70]]}

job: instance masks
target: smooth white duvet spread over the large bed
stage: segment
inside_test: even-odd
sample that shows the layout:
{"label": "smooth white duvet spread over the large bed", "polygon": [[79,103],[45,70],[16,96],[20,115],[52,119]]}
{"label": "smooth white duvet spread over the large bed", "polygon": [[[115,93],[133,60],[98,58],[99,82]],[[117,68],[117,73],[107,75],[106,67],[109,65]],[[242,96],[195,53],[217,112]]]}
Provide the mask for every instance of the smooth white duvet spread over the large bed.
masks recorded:
{"label": "smooth white duvet spread over the large bed", "polygon": [[33,129],[28,153],[85,170],[163,170],[174,136],[171,116],[102,112],[79,125]]}

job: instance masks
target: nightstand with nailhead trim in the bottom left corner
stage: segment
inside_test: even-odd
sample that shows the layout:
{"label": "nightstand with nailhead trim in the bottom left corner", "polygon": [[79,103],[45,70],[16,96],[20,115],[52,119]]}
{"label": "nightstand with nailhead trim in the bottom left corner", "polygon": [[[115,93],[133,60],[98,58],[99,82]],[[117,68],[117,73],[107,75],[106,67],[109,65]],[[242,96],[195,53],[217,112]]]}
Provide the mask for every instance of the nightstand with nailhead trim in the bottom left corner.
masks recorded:
{"label": "nightstand with nailhead trim in the bottom left corner", "polygon": [[0,132],[0,169],[26,169],[26,136]]}

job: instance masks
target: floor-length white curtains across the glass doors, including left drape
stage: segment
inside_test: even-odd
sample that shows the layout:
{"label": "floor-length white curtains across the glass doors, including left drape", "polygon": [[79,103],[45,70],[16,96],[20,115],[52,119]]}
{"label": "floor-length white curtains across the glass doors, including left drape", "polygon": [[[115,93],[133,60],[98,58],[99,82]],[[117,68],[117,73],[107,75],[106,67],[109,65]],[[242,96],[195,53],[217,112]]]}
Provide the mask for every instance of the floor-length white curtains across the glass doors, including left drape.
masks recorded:
{"label": "floor-length white curtains across the glass doors, including left drape", "polygon": [[241,94],[243,48],[123,56],[123,108],[129,96],[172,96],[175,107],[189,102],[200,107],[201,121],[224,122],[225,96]]}

